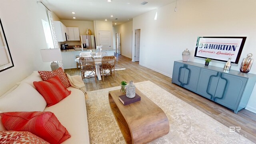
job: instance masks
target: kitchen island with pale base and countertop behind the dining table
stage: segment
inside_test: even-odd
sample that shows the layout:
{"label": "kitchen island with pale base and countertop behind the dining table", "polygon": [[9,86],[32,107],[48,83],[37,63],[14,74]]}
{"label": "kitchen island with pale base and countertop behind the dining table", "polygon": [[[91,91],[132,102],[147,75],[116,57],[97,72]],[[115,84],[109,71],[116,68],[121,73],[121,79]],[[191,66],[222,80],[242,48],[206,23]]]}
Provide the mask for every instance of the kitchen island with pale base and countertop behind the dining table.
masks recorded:
{"label": "kitchen island with pale base and countertop behind the dining table", "polygon": [[[76,68],[76,56],[79,56],[81,52],[95,52],[97,51],[96,49],[83,49],[83,50],[74,50],[74,49],[69,49],[69,50],[61,50],[61,55],[62,55],[62,63],[63,63],[63,68]],[[114,52],[116,52],[115,49],[103,49],[103,52],[106,52],[108,56],[114,56]]]}

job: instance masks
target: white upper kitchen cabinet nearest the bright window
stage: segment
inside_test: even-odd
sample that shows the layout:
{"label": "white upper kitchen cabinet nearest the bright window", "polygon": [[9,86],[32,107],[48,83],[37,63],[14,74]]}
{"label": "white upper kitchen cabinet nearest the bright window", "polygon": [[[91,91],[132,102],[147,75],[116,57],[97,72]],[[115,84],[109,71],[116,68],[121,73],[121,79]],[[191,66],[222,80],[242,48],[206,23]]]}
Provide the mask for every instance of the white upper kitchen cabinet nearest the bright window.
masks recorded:
{"label": "white upper kitchen cabinet nearest the bright window", "polygon": [[66,26],[60,21],[53,21],[58,42],[66,42]]}

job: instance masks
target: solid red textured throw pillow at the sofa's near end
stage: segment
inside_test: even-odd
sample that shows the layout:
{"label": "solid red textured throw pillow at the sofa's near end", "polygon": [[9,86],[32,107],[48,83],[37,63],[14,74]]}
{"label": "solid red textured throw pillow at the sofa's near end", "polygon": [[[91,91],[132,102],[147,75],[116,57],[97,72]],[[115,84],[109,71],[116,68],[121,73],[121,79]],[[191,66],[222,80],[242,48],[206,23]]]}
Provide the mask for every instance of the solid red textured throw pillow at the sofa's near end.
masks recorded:
{"label": "solid red textured throw pillow at the sofa's near end", "polygon": [[31,132],[50,144],[71,137],[52,112],[2,112],[0,116],[7,130]]}

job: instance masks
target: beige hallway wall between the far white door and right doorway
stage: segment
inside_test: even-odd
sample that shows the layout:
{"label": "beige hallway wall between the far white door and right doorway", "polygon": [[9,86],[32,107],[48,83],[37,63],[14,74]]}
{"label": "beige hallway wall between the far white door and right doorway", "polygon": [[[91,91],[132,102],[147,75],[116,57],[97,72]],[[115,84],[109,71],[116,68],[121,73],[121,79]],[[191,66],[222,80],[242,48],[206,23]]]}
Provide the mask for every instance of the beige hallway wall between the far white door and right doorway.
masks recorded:
{"label": "beige hallway wall between the far white door and right doorway", "polygon": [[114,45],[116,45],[115,34],[118,32],[121,38],[121,55],[132,58],[132,21],[114,26]]}

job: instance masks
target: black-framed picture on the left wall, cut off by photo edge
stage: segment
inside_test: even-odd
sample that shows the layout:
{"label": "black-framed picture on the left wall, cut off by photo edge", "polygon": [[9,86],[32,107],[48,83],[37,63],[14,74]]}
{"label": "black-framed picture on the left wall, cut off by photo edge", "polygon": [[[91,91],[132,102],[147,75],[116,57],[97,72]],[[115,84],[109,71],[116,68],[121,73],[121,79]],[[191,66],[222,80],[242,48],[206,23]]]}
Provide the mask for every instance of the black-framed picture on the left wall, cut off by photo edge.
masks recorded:
{"label": "black-framed picture on the left wall, cut off by photo edge", "polygon": [[14,67],[12,56],[4,34],[4,28],[0,19],[0,72]]}

